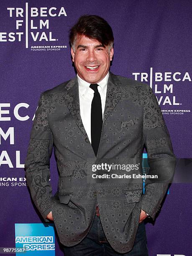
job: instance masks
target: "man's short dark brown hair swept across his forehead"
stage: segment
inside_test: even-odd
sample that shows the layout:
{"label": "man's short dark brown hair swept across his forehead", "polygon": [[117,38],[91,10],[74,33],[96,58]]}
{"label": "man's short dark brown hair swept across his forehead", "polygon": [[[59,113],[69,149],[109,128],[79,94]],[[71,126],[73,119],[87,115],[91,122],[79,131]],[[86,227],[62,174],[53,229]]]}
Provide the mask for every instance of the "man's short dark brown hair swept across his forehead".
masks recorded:
{"label": "man's short dark brown hair swept across his forehead", "polygon": [[70,29],[69,40],[74,49],[77,36],[86,36],[96,39],[103,46],[113,47],[113,31],[106,20],[97,15],[83,15]]}

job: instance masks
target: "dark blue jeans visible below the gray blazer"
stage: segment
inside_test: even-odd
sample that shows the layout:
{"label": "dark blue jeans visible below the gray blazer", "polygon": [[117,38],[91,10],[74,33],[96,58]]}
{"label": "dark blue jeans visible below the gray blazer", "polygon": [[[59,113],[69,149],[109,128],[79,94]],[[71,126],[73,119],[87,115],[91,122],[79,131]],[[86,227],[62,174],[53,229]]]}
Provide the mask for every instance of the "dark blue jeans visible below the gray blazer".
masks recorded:
{"label": "dark blue jeans visible below the gray blazer", "polygon": [[62,245],[64,256],[148,256],[146,230],[144,222],[138,226],[136,240],[133,248],[128,253],[118,253],[108,243],[102,229],[100,217],[95,214],[95,218],[87,236],[75,246]]}

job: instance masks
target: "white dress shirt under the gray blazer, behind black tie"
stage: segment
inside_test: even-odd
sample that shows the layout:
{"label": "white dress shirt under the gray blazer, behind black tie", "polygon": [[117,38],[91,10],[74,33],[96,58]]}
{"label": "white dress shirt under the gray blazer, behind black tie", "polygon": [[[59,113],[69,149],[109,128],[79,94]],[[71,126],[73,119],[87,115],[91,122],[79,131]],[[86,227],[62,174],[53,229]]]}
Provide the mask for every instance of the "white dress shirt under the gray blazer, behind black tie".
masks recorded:
{"label": "white dress shirt under the gray blazer, behind black tie", "polygon": [[[105,109],[108,77],[109,72],[99,83],[97,83],[99,85],[97,88],[101,97],[102,117]],[[80,115],[85,131],[91,143],[91,102],[93,99],[94,90],[90,88],[90,83],[84,81],[82,78],[78,76],[78,74],[77,79],[79,83]]]}

